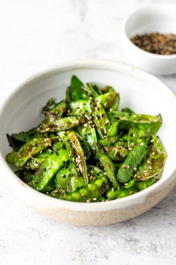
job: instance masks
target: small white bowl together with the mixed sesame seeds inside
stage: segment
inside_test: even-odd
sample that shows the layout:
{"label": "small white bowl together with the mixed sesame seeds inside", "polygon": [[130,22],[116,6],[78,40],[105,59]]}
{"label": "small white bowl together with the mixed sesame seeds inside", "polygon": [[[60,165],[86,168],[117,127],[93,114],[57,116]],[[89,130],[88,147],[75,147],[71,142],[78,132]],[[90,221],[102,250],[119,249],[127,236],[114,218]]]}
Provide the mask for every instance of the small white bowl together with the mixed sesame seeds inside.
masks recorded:
{"label": "small white bowl together with the mixed sesame seeds inside", "polygon": [[155,75],[176,73],[176,5],[152,4],[132,12],[122,26],[128,60]]}

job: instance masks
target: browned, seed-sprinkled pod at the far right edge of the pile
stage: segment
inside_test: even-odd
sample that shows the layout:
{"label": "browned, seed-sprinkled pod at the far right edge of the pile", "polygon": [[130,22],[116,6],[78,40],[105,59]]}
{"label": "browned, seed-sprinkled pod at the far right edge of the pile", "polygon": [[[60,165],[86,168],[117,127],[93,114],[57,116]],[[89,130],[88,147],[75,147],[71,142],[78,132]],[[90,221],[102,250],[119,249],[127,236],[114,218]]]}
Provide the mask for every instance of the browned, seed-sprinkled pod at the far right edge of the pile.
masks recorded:
{"label": "browned, seed-sprinkled pod at the far right edge of the pile", "polygon": [[147,160],[139,167],[136,173],[137,180],[146,181],[150,178],[160,179],[164,163],[167,158],[166,151],[157,136],[152,136],[153,145]]}

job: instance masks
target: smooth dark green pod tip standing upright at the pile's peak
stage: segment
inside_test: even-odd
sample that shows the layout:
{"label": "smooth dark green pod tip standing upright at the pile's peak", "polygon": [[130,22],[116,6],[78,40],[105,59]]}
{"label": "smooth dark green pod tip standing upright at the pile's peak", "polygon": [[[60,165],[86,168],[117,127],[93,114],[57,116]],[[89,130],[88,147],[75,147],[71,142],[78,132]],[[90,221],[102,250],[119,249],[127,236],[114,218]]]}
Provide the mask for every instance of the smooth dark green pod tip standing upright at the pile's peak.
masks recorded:
{"label": "smooth dark green pod tip standing upright at the pile's peak", "polygon": [[83,83],[76,76],[71,77],[70,95],[73,101],[88,98],[87,94],[82,89],[83,86]]}

